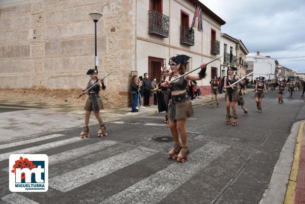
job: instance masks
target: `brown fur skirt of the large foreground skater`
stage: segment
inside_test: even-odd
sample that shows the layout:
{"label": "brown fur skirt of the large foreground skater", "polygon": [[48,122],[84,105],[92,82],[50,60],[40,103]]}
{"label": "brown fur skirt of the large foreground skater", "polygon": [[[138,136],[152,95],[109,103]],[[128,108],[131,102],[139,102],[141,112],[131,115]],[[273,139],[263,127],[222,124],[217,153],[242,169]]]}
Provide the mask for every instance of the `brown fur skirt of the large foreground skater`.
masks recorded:
{"label": "brown fur skirt of the large foreground skater", "polygon": [[172,122],[185,120],[194,113],[189,95],[185,92],[179,95],[172,95],[168,103],[168,115]]}

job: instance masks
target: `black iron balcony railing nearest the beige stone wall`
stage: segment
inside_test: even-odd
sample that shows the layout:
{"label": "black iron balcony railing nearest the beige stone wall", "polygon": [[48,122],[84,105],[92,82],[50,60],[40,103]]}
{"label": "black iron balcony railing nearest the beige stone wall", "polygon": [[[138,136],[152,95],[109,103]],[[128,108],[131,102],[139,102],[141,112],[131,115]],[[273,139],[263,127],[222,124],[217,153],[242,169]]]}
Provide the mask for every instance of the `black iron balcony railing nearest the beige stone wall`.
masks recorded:
{"label": "black iron balcony railing nearest the beige stone wall", "polygon": [[148,33],[168,38],[169,17],[156,10],[148,11]]}

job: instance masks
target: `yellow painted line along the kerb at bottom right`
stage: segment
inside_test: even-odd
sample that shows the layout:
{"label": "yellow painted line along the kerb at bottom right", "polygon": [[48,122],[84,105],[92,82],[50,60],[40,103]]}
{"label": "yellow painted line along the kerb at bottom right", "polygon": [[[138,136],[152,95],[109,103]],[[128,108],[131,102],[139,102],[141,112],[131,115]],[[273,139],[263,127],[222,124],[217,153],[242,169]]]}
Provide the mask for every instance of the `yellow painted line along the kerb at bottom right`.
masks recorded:
{"label": "yellow painted line along the kerb at bottom right", "polygon": [[294,150],[294,159],[290,171],[290,178],[288,182],[288,187],[285,195],[285,201],[284,204],[293,204],[294,203],[294,197],[295,197],[295,188],[296,188],[296,177],[297,177],[297,171],[299,166],[299,159],[300,159],[300,153],[301,153],[301,141],[302,141],[302,134],[303,134],[303,127],[304,123],[300,124],[297,139],[296,139],[296,145]]}

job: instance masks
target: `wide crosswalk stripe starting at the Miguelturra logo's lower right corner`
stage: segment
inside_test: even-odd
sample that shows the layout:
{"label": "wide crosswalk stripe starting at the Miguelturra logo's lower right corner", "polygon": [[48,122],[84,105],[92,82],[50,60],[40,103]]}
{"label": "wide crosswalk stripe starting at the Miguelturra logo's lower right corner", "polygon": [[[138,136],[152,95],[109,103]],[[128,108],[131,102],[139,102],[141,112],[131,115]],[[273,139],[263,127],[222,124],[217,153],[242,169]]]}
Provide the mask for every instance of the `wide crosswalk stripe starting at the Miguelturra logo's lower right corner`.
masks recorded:
{"label": "wide crosswalk stripe starting at the Miguelturra logo's lower right corner", "polygon": [[49,187],[68,192],[141,161],[157,151],[138,147],[49,179]]}

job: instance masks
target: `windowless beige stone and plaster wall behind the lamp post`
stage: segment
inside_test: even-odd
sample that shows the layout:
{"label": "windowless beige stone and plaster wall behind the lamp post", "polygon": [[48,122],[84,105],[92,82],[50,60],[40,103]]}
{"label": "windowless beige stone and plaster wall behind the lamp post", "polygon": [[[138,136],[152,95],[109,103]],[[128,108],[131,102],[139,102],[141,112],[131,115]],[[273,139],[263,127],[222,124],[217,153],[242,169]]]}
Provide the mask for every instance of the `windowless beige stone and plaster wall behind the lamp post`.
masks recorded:
{"label": "windowless beige stone and plaster wall behind the lamp post", "polygon": [[[135,70],[135,9],[132,0],[0,1],[0,88],[74,90],[79,94],[95,68],[97,23],[99,76],[104,103],[128,104]],[[77,90],[77,91],[76,91]]]}

